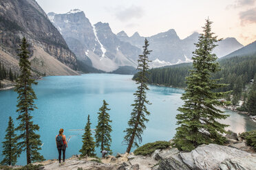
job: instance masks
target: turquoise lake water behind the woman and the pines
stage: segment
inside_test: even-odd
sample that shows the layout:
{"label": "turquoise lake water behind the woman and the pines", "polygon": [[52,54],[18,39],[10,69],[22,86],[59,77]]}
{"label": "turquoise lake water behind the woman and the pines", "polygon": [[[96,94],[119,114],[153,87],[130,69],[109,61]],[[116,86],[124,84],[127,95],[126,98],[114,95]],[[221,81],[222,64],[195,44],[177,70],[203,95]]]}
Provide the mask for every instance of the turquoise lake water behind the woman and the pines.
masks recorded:
{"label": "turquoise lake water behind the woman and the pines", "polygon": [[[131,80],[132,75],[114,74],[85,74],[79,76],[52,76],[44,77],[34,86],[37,96],[36,106],[39,108],[32,112],[34,123],[40,126],[39,134],[42,146],[41,154],[45,159],[58,158],[55,136],[60,128],[64,134],[72,136],[69,147],[66,150],[66,157],[79,154],[85,127],[87,114],[90,114],[92,128],[96,127],[98,109],[103,105],[103,99],[109,104],[109,114],[112,120],[111,149],[116,153],[124,153],[126,146],[122,145],[125,136],[123,130],[127,127],[127,121],[134,103],[133,93],[136,84]],[[169,141],[175,134],[175,115],[177,108],[182,106],[180,99],[184,92],[179,88],[168,88],[161,86],[149,86],[147,97],[152,103],[148,106],[151,112],[147,129],[142,138],[142,144],[154,141]],[[17,125],[17,93],[13,90],[0,91],[0,154],[2,153],[2,141],[6,135],[8,117],[14,119]],[[248,117],[226,110],[231,117],[224,122],[231,125],[228,129],[234,132],[256,130],[256,123]],[[96,153],[100,156],[100,150]],[[3,156],[0,156],[0,160]],[[25,165],[25,154],[18,160],[18,165]]]}

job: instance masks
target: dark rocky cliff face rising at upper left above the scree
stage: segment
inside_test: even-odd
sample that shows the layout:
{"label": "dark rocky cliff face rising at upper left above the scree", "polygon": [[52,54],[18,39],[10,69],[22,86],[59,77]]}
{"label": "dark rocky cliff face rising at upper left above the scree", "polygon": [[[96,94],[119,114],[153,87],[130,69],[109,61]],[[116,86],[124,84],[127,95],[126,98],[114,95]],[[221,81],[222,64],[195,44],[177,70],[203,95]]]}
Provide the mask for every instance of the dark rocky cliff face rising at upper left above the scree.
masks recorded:
{"label": "dark rocky cliff face rising at upper left above the scree", "polygon": [[[69,47],[56,27],[47,18],[47,15],[34,0],[2,0],[0,1],[0,44],[1,51],[6,53],[0,56],[0,60],[7,65],[13,65],[7,55],[17,58],[17,49],[21,38],[25,37],[30,44],[30,53],[34,56],[37,49],[43,49],[57,64],[67,70],[61,75],[77,74],[72,69],[77,69],[76,56]],[[50,58],[49,58],[50,59]],[[50,59],[51,60],[51,59]],[[42,61],[43,62],[43,61]],[[35,71],[46,70],[45,65],[32,62]],[[49,66],[47,69],[52,69]],[[52,73],[51,75],[55,75]]]}

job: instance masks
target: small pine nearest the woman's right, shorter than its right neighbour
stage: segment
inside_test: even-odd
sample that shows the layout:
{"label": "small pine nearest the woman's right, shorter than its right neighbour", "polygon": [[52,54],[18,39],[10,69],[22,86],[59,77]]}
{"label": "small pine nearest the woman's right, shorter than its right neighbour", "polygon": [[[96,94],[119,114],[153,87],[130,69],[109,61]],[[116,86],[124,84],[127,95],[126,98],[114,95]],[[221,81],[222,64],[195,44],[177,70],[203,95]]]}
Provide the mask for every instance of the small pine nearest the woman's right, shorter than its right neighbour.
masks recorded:
{"label": "small pine nearest the woman's right, shorter than its right neighbour", "polygon": [[91,124],[89,121],[89,114],[87,117],[87,123],[85,126],[85,133],[83,134],[83,146],[79,150],[82,154],[82,156],[95,156],[94,151],[95,151],[95,142],[94,138],[92,137],[92,132],[91,132]]}

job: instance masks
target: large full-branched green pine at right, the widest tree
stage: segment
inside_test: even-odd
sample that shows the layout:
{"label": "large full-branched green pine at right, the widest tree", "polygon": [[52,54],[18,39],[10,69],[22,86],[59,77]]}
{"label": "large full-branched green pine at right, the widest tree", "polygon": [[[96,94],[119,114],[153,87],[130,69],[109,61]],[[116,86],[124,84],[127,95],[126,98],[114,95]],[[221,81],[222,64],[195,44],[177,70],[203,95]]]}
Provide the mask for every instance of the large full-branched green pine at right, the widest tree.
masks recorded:
{"label": "large full-branched green pine at right, the widest tree", "polygon": [[222,136],[226,131],[224,125],[217,119],[226,119],[228,115],[216,108],[225,102],[218,99],[227,93],[214,92],[215,89],[226,86],[218,84],[220,80],[211,79],[212,73],[219,71],[217,57],[212,53],[217,46],[217,36],[211,32],[212,22],[206,19],[204,32],[200,35],[196,49],[193,52],[193,70],[186,77],[186,90],[182,94],[184,105],[178,108],[181,114],[176,119],[179,127],[174,137],[175,147],[184,151],[191,151],[201,144],[223,144],[226,139]]}

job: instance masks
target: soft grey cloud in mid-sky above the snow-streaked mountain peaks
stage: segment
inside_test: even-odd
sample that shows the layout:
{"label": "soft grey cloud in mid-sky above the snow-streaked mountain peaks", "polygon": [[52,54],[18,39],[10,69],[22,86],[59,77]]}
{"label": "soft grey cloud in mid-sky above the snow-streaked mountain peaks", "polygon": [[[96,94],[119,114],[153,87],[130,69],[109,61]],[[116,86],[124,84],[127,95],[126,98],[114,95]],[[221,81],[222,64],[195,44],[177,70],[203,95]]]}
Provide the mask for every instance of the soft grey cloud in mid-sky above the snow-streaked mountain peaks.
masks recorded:
{"label": "soft grey cloud in mid-sky above the snow-streaked mountain peaks", "polygon": [[118,8],[116,10],[116,19],[127,22],[131,19],[140,19],[144,14],[143,9],[140,6],[131,5],[128,8]]}

